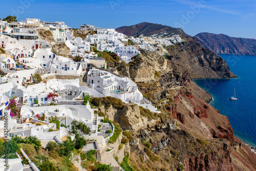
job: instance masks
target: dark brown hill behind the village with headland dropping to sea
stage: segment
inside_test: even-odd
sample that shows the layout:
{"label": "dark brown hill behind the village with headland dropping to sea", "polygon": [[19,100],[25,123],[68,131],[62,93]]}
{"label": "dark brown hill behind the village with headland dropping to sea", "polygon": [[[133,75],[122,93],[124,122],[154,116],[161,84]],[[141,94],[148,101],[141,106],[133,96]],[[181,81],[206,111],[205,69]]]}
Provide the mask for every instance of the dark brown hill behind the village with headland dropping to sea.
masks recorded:
{"label": "dark brown hill behind the village with headland dropping to sea", "polygon": [[[140,23],[133,26],[123,26],[116,31],[127,36],[136,36],[166,32],[179,34],[185,41],[181,44],[165,47],[170,68],[182,73],[188,70],[191,78],[233,78],[236,77],[216,53],[204,48],[197,38],[184,33],[180,28],[173,28],[153,23]],[[145,52],[142,52],[145,53]],[[130,73],[131,74],[131,73]]]}

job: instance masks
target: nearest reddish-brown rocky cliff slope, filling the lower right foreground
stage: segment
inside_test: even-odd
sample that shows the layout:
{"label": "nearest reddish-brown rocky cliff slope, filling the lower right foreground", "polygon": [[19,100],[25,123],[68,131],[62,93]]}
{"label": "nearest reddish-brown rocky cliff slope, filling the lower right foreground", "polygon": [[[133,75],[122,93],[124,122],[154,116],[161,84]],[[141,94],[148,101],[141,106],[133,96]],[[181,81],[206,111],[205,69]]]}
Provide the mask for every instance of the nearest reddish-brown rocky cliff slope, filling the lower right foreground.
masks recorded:
{"label": "nearest reddish-brown rocky cliff slope, filling the lower right foreground", "polygon": [[256,156],[233,136],[228,118],[201,99],[207,93],[191,81],[166,90],[161,114],[135,104],[99,108],[132,133],[134,170],[256,170]]}

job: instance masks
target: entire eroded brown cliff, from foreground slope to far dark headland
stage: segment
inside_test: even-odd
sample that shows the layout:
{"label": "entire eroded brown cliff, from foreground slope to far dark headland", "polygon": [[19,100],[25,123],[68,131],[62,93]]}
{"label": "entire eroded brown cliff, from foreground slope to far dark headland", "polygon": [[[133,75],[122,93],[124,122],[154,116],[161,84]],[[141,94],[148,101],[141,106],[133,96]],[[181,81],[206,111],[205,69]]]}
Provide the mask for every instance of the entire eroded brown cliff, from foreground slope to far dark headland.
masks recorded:
{"label": "entire eroded brown cliff, from foreground slope to far dark headland", "polygon": [[[122,32],[136,35],[143,27],[122,27]],[[236,76],[220,56],[180,32],[186,41],[166,47],[167,59],[140,50],[129,64],[117,63],[119,73],[133,79],[161,114],[133,103],[119,109],[102,105],[100,112],[129,138],[133,170],[256,170],[256,156],[234,137],[228,118],[207,103],[211,96],[190,80]]]}

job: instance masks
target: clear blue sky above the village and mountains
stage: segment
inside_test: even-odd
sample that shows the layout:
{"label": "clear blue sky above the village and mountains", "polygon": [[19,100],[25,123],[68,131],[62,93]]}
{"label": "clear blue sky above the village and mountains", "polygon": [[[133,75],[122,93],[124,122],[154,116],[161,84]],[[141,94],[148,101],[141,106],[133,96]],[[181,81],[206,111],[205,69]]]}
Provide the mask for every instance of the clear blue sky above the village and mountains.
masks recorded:
{"label": "clear blue sky above the village and mountains", "polygon": [[[16,14],[18,20],[63,21],[73,28],[83,24],[117,28],[150,22],[179,26],[191,36],[209,32],[256,38],[255,0],[8,0],[1,1],[1,7],[0,18]],[[194,12],[191,7],[199,8]]]}

